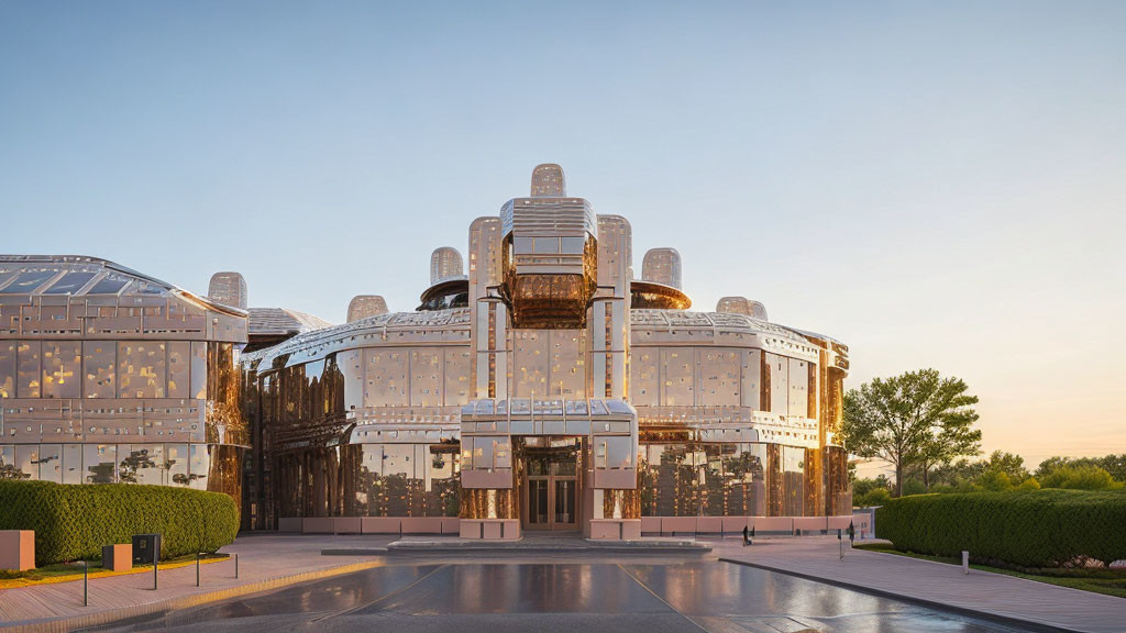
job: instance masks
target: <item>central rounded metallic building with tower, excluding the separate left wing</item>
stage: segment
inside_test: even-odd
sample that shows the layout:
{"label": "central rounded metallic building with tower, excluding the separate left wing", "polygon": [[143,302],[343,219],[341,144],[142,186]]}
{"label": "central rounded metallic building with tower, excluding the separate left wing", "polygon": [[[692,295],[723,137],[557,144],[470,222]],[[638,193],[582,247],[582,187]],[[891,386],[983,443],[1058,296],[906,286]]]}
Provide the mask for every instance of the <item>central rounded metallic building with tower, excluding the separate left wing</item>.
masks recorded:
{"label": "central rounded metallic building with tower, excluding the separate left wing", "polygon": [[622,538],[850,514],[846,346],[743,297],[690,311],[673,249],[635,279],[629,223],[555,164],[467,246],[467,276],[435,251],[413,312],[381,300],[242,356],[248,527]]}

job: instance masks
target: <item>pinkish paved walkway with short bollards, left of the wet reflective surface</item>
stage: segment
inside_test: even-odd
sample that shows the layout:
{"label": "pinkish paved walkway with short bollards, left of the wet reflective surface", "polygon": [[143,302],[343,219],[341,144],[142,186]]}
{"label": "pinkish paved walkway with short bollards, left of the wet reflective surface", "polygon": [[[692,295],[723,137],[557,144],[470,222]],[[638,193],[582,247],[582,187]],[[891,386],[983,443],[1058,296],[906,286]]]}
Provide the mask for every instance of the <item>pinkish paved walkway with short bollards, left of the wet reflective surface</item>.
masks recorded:
{"label": "pinkish paved walkway with short bollards, left of the wet reflective surface", "polygon": [[313,536],[252,534],[221,549],[239,554],[234,562],[200,567],[196,587],[195,565],[160,571],[160,588],[152,589],[152,573],[134,573],[90,580],[90,606],[82,606],[82,581],[36,585],[0,590],[0,631],[70,631],[122,617],[181,608],[295,582],[327,578],[383,564],[370,555],[323,556],[327,547],[378,550],[397,536]]}

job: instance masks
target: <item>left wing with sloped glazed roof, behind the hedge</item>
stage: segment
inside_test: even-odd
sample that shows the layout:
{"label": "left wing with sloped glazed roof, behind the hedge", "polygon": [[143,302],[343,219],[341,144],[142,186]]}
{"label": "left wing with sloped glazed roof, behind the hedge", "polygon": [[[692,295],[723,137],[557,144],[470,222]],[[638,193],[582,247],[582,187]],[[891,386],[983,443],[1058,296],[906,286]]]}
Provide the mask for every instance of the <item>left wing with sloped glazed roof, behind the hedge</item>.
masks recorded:
{"label": "left wing with sloped glazed roof, behind the hedge", "polygon": [[240,499],[245,342],[244,310],[113,262],[0,256],[0,478]]}

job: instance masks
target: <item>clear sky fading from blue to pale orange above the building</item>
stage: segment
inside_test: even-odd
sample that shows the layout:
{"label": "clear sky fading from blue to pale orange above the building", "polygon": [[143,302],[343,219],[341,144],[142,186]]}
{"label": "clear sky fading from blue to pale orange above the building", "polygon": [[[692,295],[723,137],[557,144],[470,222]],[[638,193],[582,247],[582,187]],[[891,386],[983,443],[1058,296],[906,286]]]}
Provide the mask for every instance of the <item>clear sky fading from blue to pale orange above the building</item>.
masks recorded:
{"label": "clear sky fading from blue to pale orange above the building", "polygon": [[342,321],[558,162],[725,294],[1126,452],[1126,2],[0,0],[0,252]]}

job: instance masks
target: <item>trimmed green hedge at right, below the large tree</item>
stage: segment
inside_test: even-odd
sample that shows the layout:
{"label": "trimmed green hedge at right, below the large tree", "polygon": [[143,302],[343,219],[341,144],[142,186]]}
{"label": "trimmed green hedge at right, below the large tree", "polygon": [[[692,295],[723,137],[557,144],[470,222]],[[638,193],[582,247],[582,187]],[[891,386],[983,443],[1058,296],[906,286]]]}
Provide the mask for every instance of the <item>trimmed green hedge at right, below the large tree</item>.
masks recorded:
{"label": "trimmed green hedge at right, below the large tree", "polygon": [[1058,567],[1087,555],[1126,559],[1126,492],[1027,490],[919,494],[876,510],[876,536],[896,550]]}

